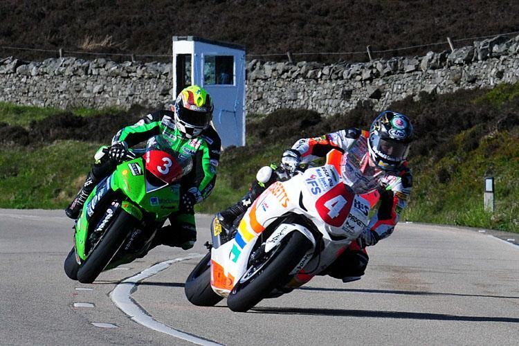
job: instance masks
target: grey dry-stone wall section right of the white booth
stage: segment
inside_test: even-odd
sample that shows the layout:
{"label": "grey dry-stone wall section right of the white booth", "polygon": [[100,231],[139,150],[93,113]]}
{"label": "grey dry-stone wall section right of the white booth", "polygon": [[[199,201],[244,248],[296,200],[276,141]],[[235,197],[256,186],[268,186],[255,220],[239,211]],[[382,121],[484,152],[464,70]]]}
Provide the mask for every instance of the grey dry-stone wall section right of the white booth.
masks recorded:
{"label": "grey dry-stone wall section right of the white booth", "polygon": [[358,102],[376,110],[419,93],[452,93],[519,80],[519,36],[495,37],[453,52],[361,64],[248,63],[247,111],[284,108],[344,113]]}

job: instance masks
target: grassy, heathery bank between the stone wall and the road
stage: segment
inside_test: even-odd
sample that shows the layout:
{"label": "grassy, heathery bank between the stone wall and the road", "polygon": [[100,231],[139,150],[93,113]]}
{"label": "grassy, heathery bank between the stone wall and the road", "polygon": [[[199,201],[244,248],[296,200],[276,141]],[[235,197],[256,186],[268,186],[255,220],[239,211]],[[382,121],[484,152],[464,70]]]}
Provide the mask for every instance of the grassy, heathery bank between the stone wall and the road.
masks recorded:
{"label": "grassy, heathery bank between the stone wall and the road", "polygon": [[[421,95],[389,108],[415,125],[410,154],[414,188],[403,219],[519,232],[519,84],[490,91]],[[90,169],[95,149],[145,114],[57,111],[0,104],[0,208],[64,208]],[[13,116],[13,113],[24,116]],[[246,147],[222,153],[215,190],[197,207],[216,212],[246,192],[262,165],[302,137],[367,128],[376,111],[336,116],[282,109],[249,115]],[[43,116],[42,116],[43,114]],[[33,120],[28,118],[34,116]],[[495,177],[495,212],[483,210],[486,176]]]}

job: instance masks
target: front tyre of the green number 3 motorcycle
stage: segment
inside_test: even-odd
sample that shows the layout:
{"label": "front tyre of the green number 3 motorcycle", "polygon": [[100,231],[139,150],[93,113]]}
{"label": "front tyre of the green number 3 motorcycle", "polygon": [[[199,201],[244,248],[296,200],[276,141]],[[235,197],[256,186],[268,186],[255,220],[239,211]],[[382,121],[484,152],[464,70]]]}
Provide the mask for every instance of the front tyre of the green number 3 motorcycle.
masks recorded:
{"label": "front tyre of the green number 3 motorcycle", "polygon": [[120,210],[112,224],[102,235],[98,244],[95,245],[89,254],[89,257],[86,257],[86,260],[81,264],[78,270],[79,282],[91,284],[98,277],[104,267],[116,255],[135,224],[134,217],[124,210]]}

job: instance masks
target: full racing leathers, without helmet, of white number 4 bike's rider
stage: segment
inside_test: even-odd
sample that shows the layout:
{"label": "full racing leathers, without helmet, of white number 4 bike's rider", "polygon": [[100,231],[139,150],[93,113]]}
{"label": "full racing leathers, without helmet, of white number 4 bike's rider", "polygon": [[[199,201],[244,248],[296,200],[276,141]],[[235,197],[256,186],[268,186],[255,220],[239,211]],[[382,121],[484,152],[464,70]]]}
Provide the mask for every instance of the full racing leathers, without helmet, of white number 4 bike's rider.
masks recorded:
{"label": "full racing leathers, without helmet, of white number 4 bike's rider", "polygon": [[[412,174],[406,161],[395,171],[384,171],[374,166],[368,152],[368,136],[367,131],[352,128],[321,137],[302,138],[284,153],[282,159],[282,165],[285,163],[285,169],[290,170],[293,165],[315,161],[325,157],[331,149],[337,149],[343,152],[341,175],[345,183],[350,185],[356,194],[363,194],[372,207],[379,203],[376,214],[370,219],[370,223],[358,238],[358,242],[352,243],[348,250],[323,273],[341,278],[345,282],[356,280],[363,275],[369,260],[365,246],[374,245],[380,239],[391,235],[394,226],[399,221],[401,211],[406,208],[412,188]],[[285,161],[285,158],[288,160]],[[239,206],[242,206],[241,209],[244,209],[244,212],[246,210],[243,207],[244,204],[250,205],[268,184],[275,181],[277,174],[272,176],[274,178],[270,178],[266,185],[260,184],[260,182],[253,183],[248,194],[235,206],[221,212],[219,219],[226,219],[226,213],[232,211],[232,208],[236,210]]]}

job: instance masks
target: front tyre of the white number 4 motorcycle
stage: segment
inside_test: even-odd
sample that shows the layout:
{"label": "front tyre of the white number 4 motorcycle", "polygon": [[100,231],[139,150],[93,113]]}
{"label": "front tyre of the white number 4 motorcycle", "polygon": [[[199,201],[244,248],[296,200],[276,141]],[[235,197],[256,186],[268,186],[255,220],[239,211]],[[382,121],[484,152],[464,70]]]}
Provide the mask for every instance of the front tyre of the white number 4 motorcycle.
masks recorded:
{"label": "front tyre of the white number 4 motorcycle", "polygon": [[264,253],[262,262],[249,266],[235,284],[227,298],[229,309],[245,312],[254,307],[286,279],[311,246],[302,233],[294,231],[286,235],[277,248]]}

